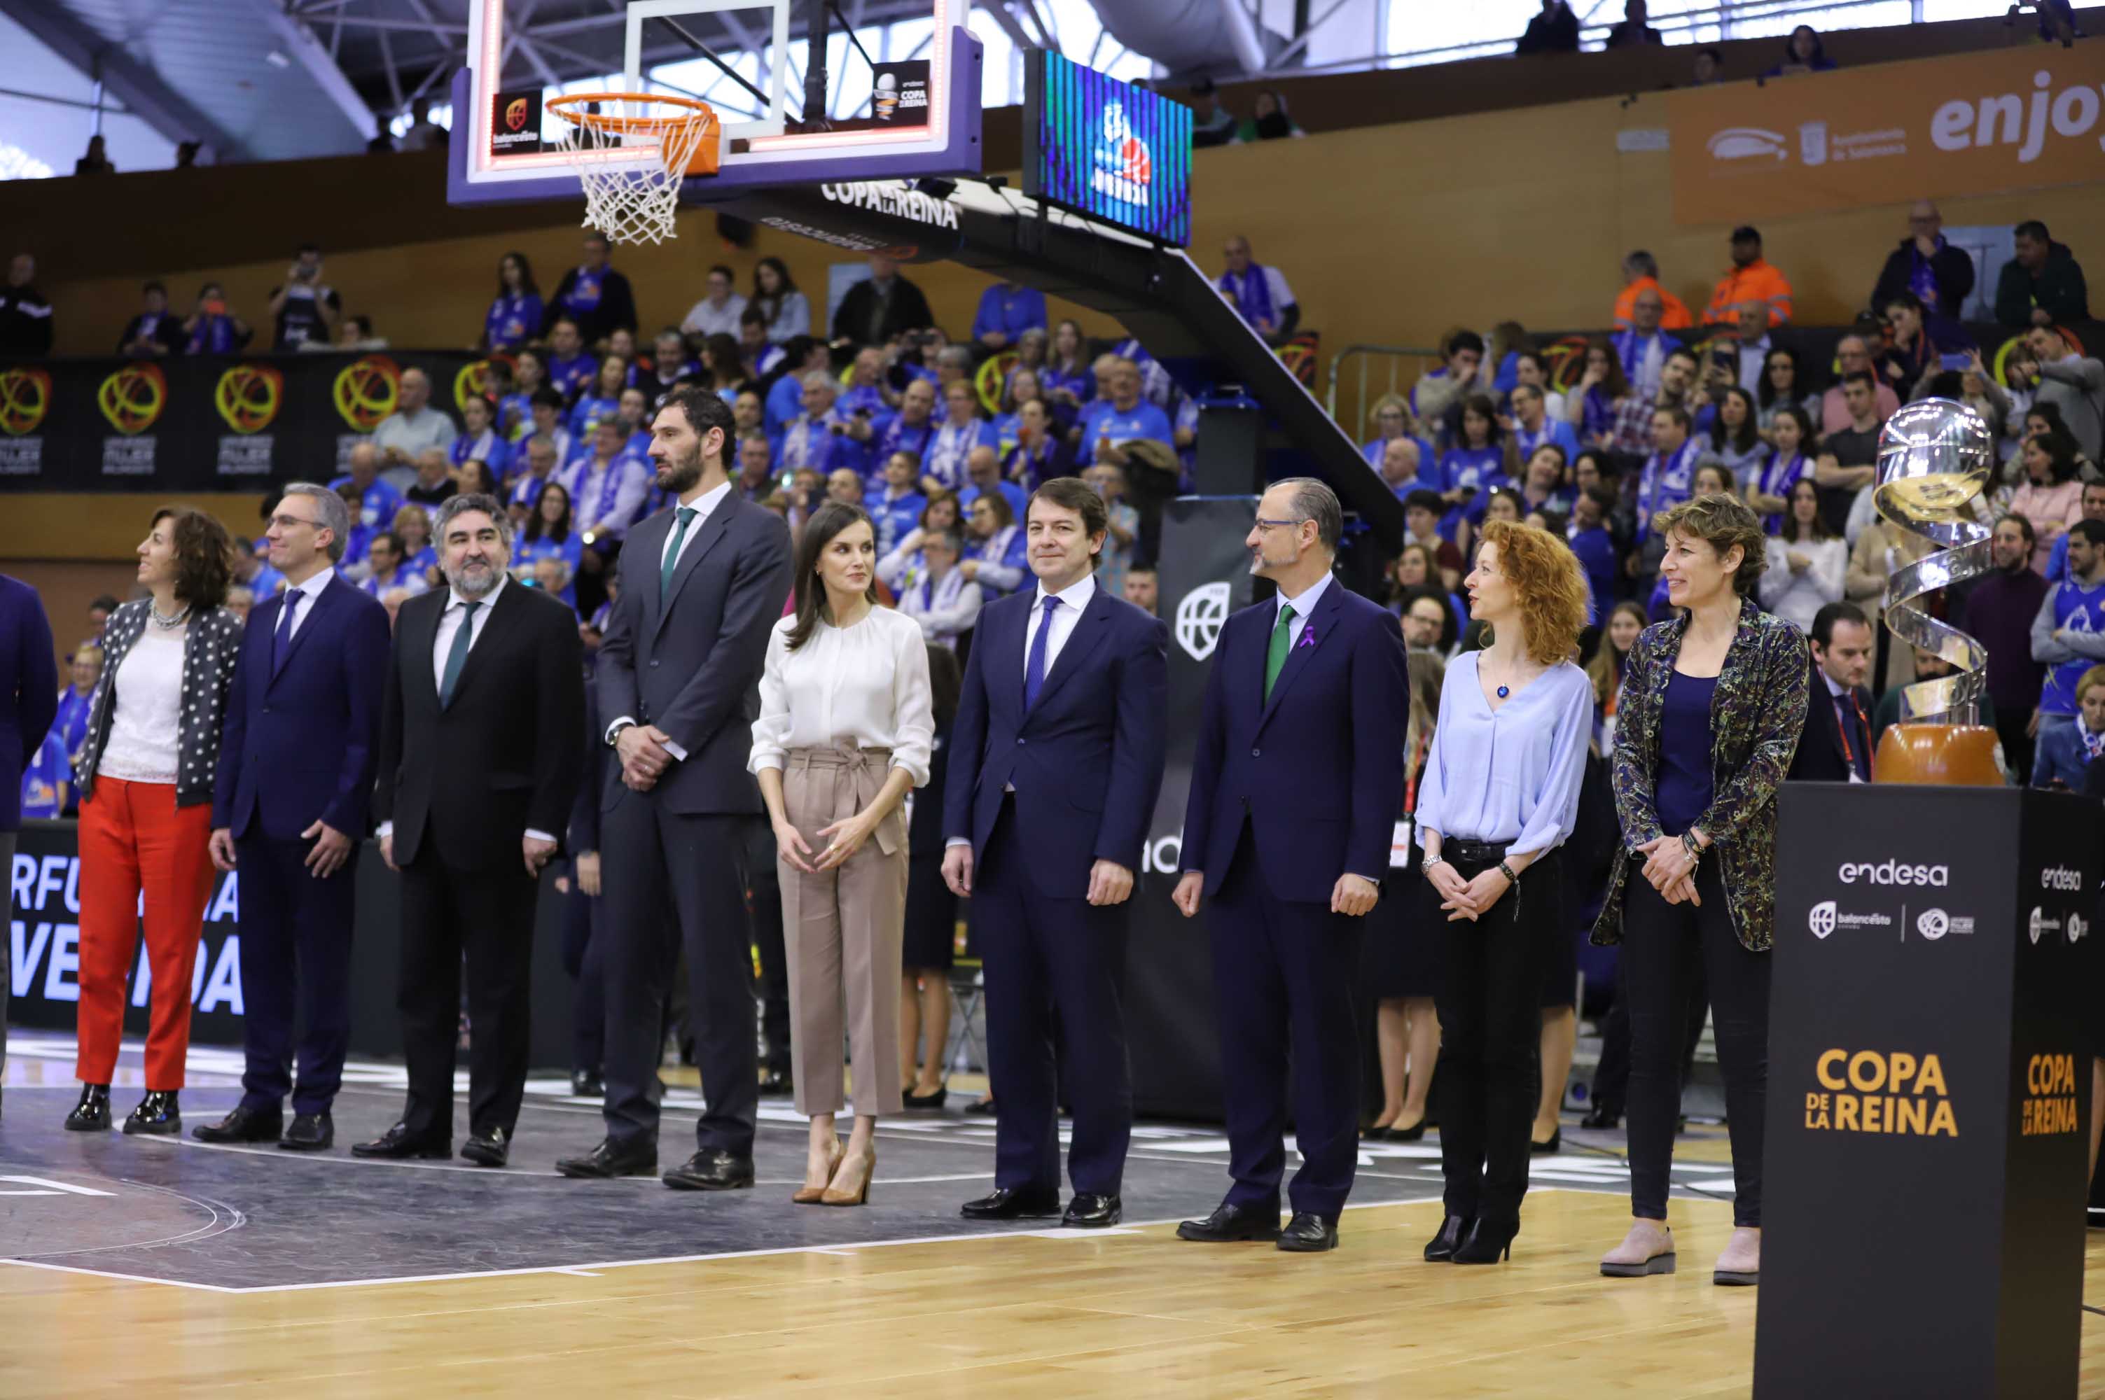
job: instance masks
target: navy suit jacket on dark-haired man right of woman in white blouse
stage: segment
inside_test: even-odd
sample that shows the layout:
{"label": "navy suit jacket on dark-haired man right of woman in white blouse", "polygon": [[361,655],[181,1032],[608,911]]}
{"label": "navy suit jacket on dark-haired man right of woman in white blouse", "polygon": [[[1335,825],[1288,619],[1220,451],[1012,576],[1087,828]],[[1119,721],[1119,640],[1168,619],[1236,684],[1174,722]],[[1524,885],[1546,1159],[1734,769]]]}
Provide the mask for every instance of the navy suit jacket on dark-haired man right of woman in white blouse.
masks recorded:
{"label": "navy suit jacket on dark-haired man right of woman in white blouse", "polygon": [[977,861],[1002,792],[1015,785],[1031,882],[1044,895],[1082,899],[1097,861],[1141,869],[1166,758],[1168,629],[1099,581],[1025,712],[1023,646],[1036,608],[1029,587],[979,613],[951,731],[943,829],[970,838]]}

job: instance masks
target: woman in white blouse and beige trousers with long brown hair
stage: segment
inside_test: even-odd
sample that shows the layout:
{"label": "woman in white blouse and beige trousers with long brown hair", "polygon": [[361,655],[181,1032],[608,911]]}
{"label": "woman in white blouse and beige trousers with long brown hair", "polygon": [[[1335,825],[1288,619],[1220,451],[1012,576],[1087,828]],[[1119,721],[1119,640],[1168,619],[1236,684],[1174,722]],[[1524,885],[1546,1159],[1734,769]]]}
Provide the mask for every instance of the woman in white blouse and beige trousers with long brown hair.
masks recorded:
{"label": "woman in white blouse and beige trousers with long brown hair", "polygon": [[[796,613],[768,638],[747,764],[775,823],[796,1109],[810,1116],[798,1204],[863,1204],[878,1114],[901,1109],[903,804],[928,781],[935,709],[920,623],[876,602],[876,539],[869,516],[838,501],[804,524]],[[846,1147],[834,1135],[846,1101],[844,1006]]]}

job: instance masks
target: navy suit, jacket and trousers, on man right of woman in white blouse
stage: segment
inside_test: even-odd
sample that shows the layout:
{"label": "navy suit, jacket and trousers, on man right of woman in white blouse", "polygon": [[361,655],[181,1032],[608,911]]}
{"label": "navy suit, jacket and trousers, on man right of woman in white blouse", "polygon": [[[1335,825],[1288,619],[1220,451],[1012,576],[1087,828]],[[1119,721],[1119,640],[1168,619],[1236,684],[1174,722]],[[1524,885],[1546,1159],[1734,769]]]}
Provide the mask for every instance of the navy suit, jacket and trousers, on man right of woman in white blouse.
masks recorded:
{"label": "navy suit, jacket and trousers, on man right of woman in white blouse", "polygon": [[[1162,789],[1168,632],[1099,585],[1025,709],[1038,589],[987,604],[951,731],[943,829],[970,838],[987,977],[996,1187],[1059,1189],[1057,1078],[1076,1192],[1116,1196],[1132,1137],[1120,987],[1126,907],[1090,905],[1097,861],[1141,869]],[[1015,792],[1008,792],[1015,787]],[[1065,1076],[1055,1076],[1052,1025]]]}

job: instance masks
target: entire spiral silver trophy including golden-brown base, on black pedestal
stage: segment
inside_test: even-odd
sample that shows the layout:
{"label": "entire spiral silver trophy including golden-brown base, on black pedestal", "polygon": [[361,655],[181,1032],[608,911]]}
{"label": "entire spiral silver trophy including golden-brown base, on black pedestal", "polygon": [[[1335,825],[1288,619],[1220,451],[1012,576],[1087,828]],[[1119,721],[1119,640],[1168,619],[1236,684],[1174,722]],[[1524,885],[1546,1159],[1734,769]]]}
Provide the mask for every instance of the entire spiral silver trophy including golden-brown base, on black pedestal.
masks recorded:
{"label": "entire spiral silver trophy including golden-brown base, on black pedestal", "polygon": [[1993,469],[1996,438],[1987,423],[1949,398],[1903,404],[1878,434],[1871,503],[1899,528],[1941,545],[1886,581],[1886,627],[1894,640],[1958,667],[1901,688],[1901,722],[1878,743],[1880,783],[2004,783],[1996,731],[1979,718],[1987,648],[1918,602],[1993,566],[1991,531],[1979,505]]}

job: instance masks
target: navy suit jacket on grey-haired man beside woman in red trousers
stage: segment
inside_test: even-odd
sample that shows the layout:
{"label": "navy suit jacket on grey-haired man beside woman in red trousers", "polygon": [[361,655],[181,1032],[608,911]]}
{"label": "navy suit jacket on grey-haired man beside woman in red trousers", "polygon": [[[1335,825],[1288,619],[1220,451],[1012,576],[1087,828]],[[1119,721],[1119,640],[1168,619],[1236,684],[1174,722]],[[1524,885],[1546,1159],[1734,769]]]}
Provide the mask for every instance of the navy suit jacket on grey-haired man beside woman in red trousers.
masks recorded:
{"label": "navy suit jacket on grey-haired man beside woman in red trousers", "polygon": [[[366,838],[379,771],[387,608],[330,579],[274,665],[286,594],[259,602],[242,629],[213,785],[213,825],[236,840],[299,840],[326,821]],[[276,672],[276,676],[272,674]]]}

